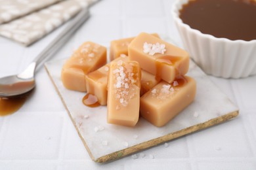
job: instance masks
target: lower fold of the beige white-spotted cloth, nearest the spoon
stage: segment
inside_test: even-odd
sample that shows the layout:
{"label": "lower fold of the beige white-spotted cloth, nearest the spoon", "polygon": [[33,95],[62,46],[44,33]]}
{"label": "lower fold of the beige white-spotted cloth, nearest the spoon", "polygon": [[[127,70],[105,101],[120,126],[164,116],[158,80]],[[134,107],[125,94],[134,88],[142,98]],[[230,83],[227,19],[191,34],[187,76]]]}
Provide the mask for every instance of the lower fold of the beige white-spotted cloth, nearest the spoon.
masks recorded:
{"label": "lower fold of the beige white-spotted cloth, nearest the spoon", "polygon": [[[60,1],[54,5],[46,7],[45,9],[22,16],[21,18],[12,20],[11,22],[1,24],[0,35],[12,39],[13,41],[20,42],[25,46],[29,46],[33,42],[41,39],[41,37],[56,29],[56,27],[64,24],[64,22],[75,16],[75,14],[77,14],[81,9],[88,7],[95,1],[97,0]],[[0,0],[0,7],[2,2],[3,0]]]}

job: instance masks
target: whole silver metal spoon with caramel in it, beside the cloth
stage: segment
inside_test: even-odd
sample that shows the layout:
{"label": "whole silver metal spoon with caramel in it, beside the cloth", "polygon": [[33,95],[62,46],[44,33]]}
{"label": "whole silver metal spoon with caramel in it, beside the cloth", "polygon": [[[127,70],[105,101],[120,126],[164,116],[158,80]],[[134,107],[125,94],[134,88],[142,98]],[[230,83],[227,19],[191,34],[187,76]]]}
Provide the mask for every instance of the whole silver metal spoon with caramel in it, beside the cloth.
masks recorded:
{"label": "whole silver metal spoon with caramel in it, beside the cloth", "polygon": [[68,25],[68,27],[66,27],[35,59],[33,59],[32,63],[30,63],[22,73],[0,78],[0,97],[21,95],[35,88],[34,75],[37,65],[46,58],[53,56],[54,52],[56,52],[64,42],[68,41],[68,38],[70,38],[74,31],[88,18],[89,10],[83,9],[75,16],[70,25]]}

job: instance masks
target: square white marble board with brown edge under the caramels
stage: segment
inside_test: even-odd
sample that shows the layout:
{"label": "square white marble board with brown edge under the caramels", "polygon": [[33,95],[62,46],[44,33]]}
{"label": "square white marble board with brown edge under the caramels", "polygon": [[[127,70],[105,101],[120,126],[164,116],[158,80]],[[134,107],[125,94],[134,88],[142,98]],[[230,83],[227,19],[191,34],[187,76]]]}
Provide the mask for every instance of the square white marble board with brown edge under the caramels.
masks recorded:
{"label": "square white marble board with brown edge under the caramels", "polygon": [[45,68],[79,137],[96,162],[116,160],[238,116],[238,107],[190,61],[187,75],[196,79],[196,99],[168,124],[156,127],[143,118],[139,119],[135,127],[108,124],[106,106],[86,107],[82,103],[85,93],[64,88],[60,79],[64,61],[47,62]]}

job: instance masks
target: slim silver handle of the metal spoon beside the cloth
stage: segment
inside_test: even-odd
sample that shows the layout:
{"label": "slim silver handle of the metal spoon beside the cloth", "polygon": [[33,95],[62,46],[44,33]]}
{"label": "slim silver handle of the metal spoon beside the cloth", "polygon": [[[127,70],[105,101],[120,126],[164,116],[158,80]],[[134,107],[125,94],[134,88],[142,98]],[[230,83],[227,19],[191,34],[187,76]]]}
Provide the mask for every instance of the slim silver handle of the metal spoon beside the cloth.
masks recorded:
{"label": "slim silver handle of the metal spoon beside the cloth", "polygon": [[63,46],[64,42],[68,41],[71,35],[74,34],[75,30],[88,18],[89,10],[87,8],[81,10],[71,23],[35,59],[33,59],[32,63],[35,63],[35,67],[37,67],[41,61],[53,56],[53,54]]}

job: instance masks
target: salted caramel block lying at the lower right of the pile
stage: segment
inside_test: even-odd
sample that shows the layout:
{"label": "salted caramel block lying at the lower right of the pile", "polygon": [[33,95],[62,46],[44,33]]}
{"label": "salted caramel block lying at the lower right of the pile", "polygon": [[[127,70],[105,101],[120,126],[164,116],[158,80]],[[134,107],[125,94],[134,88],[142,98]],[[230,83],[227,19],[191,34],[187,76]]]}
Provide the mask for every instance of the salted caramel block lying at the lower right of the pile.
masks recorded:
{"label": "salted caramel block lying at the lower right of the pile", "polygon": [[161,81],[140,97],[140,115],[154,124],[164,126],[187,107],[196,95],[196,81],[180,76],[171,84]]}

